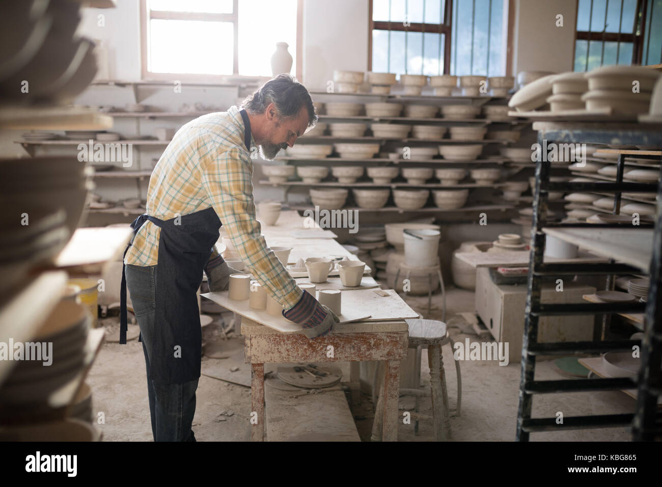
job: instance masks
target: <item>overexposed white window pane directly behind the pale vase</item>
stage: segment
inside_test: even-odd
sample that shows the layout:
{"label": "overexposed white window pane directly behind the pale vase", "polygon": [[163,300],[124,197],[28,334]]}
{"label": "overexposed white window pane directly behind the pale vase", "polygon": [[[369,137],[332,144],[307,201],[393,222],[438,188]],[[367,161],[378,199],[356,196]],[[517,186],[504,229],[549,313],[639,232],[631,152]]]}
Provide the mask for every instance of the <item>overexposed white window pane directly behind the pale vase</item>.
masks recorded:
{"label": "overexposed white window pane directly behind the pale vase", "polygon": [[[239,74],[271,76],[271,56],[276,42],[287,42],[292,56],[291,73],[297,66],[297,0],[240,0]],[[256,35],[254,26],[268,25]]]}

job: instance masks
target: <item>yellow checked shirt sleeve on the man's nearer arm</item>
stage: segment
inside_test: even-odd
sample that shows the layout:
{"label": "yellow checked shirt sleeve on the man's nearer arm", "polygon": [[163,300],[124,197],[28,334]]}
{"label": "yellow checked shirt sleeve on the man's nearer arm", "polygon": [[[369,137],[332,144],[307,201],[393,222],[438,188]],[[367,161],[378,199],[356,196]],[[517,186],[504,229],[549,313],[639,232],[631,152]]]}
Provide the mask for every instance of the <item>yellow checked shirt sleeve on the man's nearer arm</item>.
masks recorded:
{"label": "yellow checked shirt sleeve on the man's nearer arm", "polygon": [[253,200],[252,162],[244,151],[232,148],[201,160],[202,186],[236,252],[273,299],[291,309],[303,291],[269,249]]}

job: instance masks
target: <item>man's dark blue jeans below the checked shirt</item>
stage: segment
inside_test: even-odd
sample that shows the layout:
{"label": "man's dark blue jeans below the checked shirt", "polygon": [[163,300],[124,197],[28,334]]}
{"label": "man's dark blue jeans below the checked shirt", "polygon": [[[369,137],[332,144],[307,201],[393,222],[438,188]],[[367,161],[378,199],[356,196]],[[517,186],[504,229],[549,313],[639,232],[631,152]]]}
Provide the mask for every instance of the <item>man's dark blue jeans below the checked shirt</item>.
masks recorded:
{"label": "man's dark blue jeans below the checked shirt", "polygon": [[191,430],[195,415],[195,390],[198,380],[183,384],[155,384],[150,378],[150,344],[158,333],[156,321],[156,268],[127,264],[126,288],[142,335],[142,350],[147,368],[147,392],[154,441],[195,441]]}

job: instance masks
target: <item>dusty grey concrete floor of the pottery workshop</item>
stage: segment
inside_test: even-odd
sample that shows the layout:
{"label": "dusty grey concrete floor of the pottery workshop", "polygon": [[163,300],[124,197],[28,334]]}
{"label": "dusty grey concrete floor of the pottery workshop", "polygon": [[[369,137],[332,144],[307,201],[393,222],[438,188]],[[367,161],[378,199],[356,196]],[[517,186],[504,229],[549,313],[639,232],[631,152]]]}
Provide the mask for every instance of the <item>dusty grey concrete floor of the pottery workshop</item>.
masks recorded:
{"label": "dusty grey concrete floor of the pottery workshop", "polygon": [[[450,318],[455,313],[473,311],[473,293],[448,289]],[[438,296],[436,297],[439,301]],[[441,313],[433,309],[428,315],[427,298],[407,298],[409,304],[426,318],[440,319]],[[433,300],[434,303],[434,300]],[[464,341],[475,335],[463,335],[451,329],[451,335]],[[218,336],[216,322],[204,329],[205,339]],[[449,404],[455,408],[457,382],[453,353],[444,347],[444,364],[448,384]],[[204,358],[203,360],[216,360]],[[454,441],[513,441],[518,407],[520,364],[499,366],[498,362],[462,361],[461,416],[451,417]],[[551,361],[539,362],[536,378],[561,378],[552,368]],[[105,424],[99,425],[105,441],[150,441],[150,413],[147,400],[144,356],[142,345],[131,341],[128,345],[105,343],[88,378],[93,390],[94,411],[103,411]],[[429,384],[427,354],[422,356],[422,383]],[[410,404],[408,404],[410,403]],[[401,406],[411,407],[412,400],[402,398]],[[634,411],[634,399],[619,391],[573,394],[549,394],[534,398],[534,417],[553,417],[557,411],[565,416],[581,414],[627,413]],[[423,400],[421,411],[429,411],[429,400]],[[219,416],[220,411],[234,413]],[[363,441],[369,441],[373,422],[372,403],[362,395],[354,416]],[[250,389],[201,376],[197,391],[197,410],[193,422],[199,441],[248,441],[250,439]],[[420,423],[419,435],[414,436],[414,425],[399,426],[401,441],[432,441],[430,425]],[[629,441],[625,428],[593,429],[534,433],[532,441]]]}

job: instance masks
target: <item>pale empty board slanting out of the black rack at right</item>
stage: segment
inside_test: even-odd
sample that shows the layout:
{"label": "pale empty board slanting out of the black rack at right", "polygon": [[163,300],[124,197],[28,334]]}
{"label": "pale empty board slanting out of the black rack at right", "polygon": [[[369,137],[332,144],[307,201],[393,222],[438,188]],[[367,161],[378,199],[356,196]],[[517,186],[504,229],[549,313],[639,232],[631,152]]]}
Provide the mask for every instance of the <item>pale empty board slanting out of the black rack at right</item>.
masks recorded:
{"label": "pale empty board slanting out of the black rack at right", "polygon": [[589,229],[544,227],[547,235],[649,272],[653,229]]}

